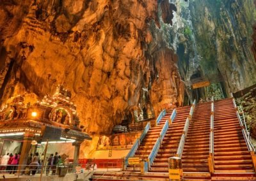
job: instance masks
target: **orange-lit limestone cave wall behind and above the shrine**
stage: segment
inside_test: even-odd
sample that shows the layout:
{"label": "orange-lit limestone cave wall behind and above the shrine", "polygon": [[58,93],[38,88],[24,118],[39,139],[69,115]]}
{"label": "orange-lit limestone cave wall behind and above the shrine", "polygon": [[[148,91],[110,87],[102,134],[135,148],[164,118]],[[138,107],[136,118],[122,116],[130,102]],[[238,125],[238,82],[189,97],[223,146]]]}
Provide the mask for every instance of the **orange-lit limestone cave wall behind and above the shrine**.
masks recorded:
{"label": "orange-lit limestone cave wall behind and above the shrine", "polygon": [[33,103],[63,85],[89,134],[110,133],[145,106],[157,115],[181,105],[177,56],[163,30],[175,7],[166,2],[1,1],[1,103],[17,94]]}

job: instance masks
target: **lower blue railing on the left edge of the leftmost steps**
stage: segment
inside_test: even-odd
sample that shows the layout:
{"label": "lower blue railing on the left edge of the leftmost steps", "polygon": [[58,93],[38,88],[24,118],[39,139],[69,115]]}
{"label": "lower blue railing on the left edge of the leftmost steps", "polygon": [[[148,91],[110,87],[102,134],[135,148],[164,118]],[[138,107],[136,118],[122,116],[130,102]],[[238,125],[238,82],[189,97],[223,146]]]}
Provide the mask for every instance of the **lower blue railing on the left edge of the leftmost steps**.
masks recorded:
{"label": "lower blue railing on the left edge of the leftmost steps", "polygon": [[129,151],[129,153],[127,154],[127,156],[124,158],[124,169],[126,168],[126,165],[128,164],[128,158],[129,157],[133,157],[136,150],[138,150],[138,148],[140,147],[140,143],[143,141],[143,139],[145,138],[146,134],[148,133],[148,130],[150,129],[150,122],[147,123],[147,125],[145,126],[145,129],[143,131],[143,133],[141,133],[140,138],[138,138],[134,145],[132,146],[131,150]]}

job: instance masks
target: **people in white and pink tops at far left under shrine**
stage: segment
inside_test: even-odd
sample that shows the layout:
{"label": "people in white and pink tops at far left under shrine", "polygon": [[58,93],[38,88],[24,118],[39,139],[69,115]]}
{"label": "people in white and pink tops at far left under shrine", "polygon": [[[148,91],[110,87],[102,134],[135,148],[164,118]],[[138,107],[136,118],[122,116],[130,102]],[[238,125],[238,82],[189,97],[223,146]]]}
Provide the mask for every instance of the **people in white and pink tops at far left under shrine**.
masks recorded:
{"label": "people in white and pink tops at far left under shrine", "polygon": [[1,157],[1,168],[0,170],[6,170],[9,171],[10,174],[16,173],[18,164],[20,160],[20,153],[15,153],[14,155],[12,153],[7,153],[3,157]]}

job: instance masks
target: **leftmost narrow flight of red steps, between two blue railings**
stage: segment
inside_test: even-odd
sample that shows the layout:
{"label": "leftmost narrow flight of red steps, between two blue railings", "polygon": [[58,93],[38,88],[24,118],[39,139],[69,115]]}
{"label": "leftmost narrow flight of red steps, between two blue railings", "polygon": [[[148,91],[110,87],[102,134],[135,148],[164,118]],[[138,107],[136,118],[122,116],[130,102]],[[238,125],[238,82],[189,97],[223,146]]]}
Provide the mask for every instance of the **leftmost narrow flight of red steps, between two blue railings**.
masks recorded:
{"label": "leftmost narrow flight of red steps, between two blue railings", "polygon": [[[166,113],[161,120],[159,121],[159,124],[155,127],[150,127],[148,130],[148,133],[146,134],[145,138],[140,144],[140,147],[134,154],[134,157],[140,157],[141,159],[148,159],[148,156],[154,147],[154,144],[156,143],[157,138],[159,138],[159,134],[161,130],[163,129],[164,123],[166,120],[170,119],[170,116],[172,115],[172,112]],[[136,165],[134,166],[127,166],[127,170],[140,170],[140,166]]]}

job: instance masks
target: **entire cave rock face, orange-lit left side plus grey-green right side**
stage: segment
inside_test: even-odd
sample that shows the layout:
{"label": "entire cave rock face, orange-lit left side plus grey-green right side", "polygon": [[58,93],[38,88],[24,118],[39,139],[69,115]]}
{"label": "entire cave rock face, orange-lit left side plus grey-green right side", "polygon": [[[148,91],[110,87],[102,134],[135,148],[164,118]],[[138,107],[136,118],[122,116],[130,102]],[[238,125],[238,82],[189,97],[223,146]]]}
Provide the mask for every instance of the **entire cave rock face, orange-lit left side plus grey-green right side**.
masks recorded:
{"label": "entire cave rock face, orange-lit left side plus grey-green right side", "polygon": [[129,112],[182,105],[181,79],[226,71],[229,82],[204,94],[243,89],[256,82],[252,7],[253,0],[3,0],[1,103],[17,94],[33,103],[63,85],[93,134],[110,133]]}

